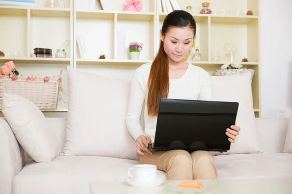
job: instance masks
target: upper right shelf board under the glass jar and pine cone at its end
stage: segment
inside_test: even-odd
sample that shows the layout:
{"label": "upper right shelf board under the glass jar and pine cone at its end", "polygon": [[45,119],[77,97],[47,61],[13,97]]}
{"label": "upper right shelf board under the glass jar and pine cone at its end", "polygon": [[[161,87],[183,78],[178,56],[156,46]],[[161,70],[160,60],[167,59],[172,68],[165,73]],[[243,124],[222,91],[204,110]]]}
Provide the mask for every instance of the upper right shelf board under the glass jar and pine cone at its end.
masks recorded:
{"label": "upper right shelf board under the glass jar and pine cone at its end", "polygon": [[210,16],[211,23],[247,24],[258,19],[258,16]]}

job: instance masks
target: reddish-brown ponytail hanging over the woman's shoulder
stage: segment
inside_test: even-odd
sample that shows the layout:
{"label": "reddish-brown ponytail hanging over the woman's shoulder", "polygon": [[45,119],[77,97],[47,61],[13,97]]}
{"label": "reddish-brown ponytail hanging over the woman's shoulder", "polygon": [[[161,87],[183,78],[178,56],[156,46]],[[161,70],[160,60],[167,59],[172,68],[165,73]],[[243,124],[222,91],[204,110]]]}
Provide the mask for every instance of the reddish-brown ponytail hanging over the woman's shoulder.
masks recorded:
{"label": "reddish-brown ponytail hanging over the woman's shoulder", "polygon": [[149,116],[158,114],[160,98],[168,96],[169,89],[169,64],[168,58],[164,51],[163,41],[160,42],[160,47],[157,55],[151,65],[148,79],[148,97],[147,109]]}

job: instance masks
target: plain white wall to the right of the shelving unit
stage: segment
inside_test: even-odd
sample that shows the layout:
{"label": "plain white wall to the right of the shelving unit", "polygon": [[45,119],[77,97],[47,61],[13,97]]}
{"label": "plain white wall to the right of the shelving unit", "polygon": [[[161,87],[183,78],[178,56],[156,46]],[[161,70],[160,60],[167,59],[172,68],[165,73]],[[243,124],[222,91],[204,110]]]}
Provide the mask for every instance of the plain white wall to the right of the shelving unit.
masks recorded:
{"label": "plain white wall to the right of the shelving unit", "polygon": [[261,0],[262,117],[292,111],[292,0]]}

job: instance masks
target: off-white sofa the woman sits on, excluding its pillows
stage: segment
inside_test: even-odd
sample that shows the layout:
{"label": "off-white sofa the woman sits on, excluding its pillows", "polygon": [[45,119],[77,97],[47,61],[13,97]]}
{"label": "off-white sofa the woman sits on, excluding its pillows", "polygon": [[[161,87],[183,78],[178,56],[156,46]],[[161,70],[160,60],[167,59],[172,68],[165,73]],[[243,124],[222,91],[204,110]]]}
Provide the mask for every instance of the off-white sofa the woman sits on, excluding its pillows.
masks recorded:
{"label": "off-white sofa the woman sits on, excluding its pillows", "polygon": [[[65,118],[46,118],[62,150]],[[266,153],[215,156],[219,179],[292,177],[292,154],[282,153],[288,118],[256,118]],[[0,118],[0,194],[89,194],[91,181],[123,181],[136,160],[57,156],[52,162],[27,160],[4,118]],[[163,172],[162,172],[163,173]]]}

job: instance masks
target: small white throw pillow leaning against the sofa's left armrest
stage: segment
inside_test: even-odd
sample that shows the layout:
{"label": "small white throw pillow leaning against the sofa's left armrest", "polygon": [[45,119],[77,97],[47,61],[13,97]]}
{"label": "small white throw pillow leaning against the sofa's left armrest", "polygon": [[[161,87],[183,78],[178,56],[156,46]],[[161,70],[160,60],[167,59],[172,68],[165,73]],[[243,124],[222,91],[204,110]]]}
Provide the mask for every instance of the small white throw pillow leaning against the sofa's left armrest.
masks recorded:
{"label": "small white throw pillow leaning against the sofa's left armrest", "polygon": [[5,93],[2,113],[20,146],[36,162],[51,162],[58,155],[56,138],[37,106],[25,97]]}

